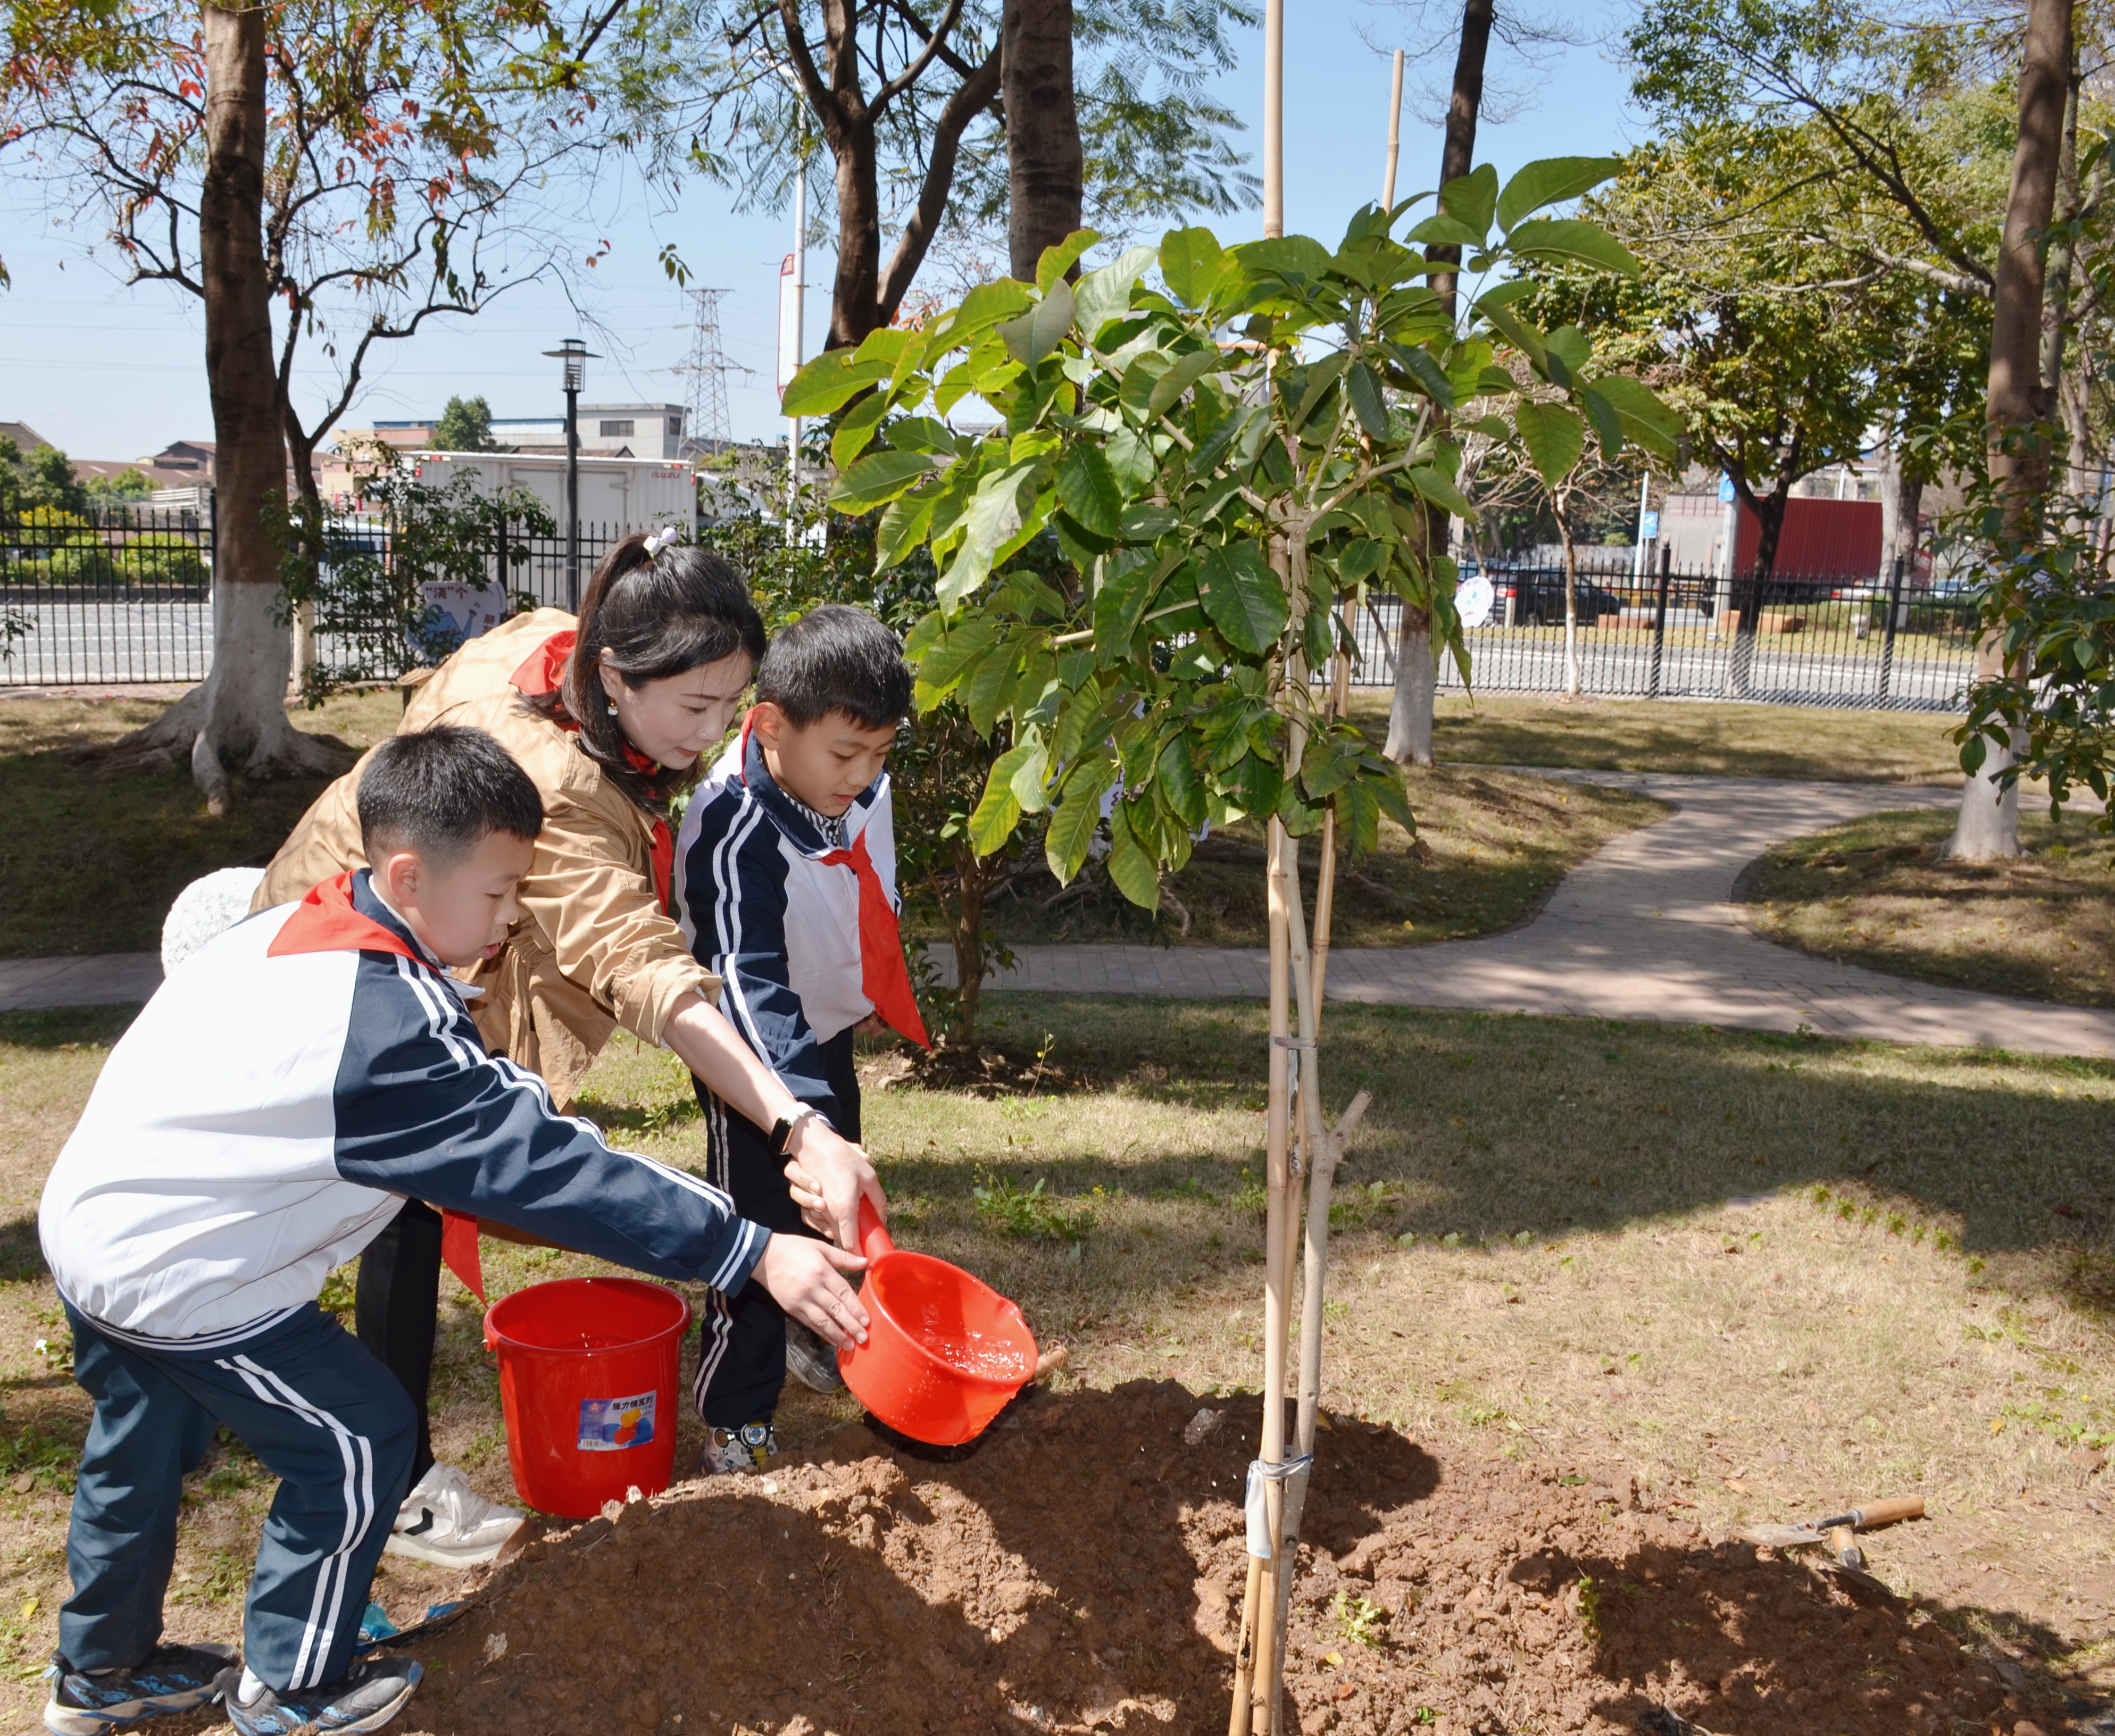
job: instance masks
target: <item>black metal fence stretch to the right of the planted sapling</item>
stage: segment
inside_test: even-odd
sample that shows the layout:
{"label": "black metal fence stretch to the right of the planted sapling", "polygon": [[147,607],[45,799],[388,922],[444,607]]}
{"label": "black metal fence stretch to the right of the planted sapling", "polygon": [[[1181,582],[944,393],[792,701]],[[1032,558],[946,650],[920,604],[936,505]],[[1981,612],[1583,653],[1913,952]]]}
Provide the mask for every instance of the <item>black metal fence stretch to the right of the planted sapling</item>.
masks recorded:
{"label": "black metal fence stretch to the right of the planted sapling", "polygon": [[[1971,592],[1772,573],[1580,573],[1565,645],[1561,567],[1489,569],[1491,611],[1468,628],[1478,694],[1965,710],[1975,679]],[[1360,611],[1356,685],[1396,679],[1402,605]],[[1451,658],[1440,689],[1461,689]]]}

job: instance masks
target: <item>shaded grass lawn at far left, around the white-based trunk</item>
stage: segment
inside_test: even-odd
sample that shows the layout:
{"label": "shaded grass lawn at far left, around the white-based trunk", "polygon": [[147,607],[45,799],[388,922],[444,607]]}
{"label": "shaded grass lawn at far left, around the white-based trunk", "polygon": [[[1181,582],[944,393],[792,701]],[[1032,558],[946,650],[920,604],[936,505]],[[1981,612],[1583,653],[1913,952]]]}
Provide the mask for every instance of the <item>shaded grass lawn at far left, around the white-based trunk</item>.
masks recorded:
{"label": "shaded grass lawn at far left, around the white-based trunk", "polygon": [[[157,949],[190,880],[269,863],[324,789],[313,778],[245,787],[216,820],[184,770],[97,776],[95,751],[167,704],[0,698],[0,958]],[[296,723],[366,749],[400,713],[396,694],[347,694]]]}

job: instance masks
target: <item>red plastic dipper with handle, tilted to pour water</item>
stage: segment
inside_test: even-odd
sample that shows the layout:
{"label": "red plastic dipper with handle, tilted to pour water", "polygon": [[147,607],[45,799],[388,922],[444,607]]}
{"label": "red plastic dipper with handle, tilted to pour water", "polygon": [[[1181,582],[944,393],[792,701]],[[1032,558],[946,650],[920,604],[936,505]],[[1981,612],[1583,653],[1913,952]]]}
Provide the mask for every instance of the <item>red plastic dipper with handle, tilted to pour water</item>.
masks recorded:
{"label": "red plastic dipper with handle, tilted to pour water", "polygon": [[867,1343],[840,1345],[852,1396],[897,1434],[960,1446],[1036,1372],[1036,1341],[1022,1311],[960,1267],[903,1254],[873,1207],[859,1203],[867,1256]]}

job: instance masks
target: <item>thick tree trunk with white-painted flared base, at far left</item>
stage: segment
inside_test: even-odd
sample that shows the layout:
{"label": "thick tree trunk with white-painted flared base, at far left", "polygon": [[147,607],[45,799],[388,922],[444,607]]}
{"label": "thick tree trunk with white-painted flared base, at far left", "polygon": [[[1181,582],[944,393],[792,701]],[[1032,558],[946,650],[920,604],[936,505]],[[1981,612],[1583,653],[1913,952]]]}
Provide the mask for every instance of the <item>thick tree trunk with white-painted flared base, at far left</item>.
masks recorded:
{"label": "thick tree trunk with white-painted flared base, at far left", "polygon": [[343,751],[294,730],[286,679],[279,550],[264,524],[286,488],[279,374],[264,262],[264,11],[205,0],[205,173],[199,279],[214,404],[214,668],[203,685],[114,749],[118,763],[190,757],[205,806],[224,814],[233,778],[330,774]]}

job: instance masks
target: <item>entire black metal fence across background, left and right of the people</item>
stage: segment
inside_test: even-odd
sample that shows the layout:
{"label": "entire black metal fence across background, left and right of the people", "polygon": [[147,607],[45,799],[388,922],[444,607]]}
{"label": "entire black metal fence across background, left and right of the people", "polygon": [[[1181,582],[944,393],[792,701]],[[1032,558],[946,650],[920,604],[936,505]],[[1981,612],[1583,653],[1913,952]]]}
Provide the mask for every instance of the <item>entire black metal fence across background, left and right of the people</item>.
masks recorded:
{"label": "entire black metal fence across background, left and right of the people", "polygon": [[[387,550],[387,529],[345,520],[334,535]],[[626,535],[580,527],[580,586]],[[114,512],[95,520],[27,514],[0,522],[0,685],[201,681],[212,666],[212,516]],[[321,611],[326,668],[398,675],[448,649],[450,622],[474,607],[571,607],[565,533],[493,537],[484,603],[467,586],[436,598],[434,632],[415,645],[398,626],[332,622]],[[1975,601],[1906,579],[1857,584],[1777,573],[1582,573],[1578,630],[1565,647],[1565,575],[1550,567],[1485,573],[1489,617],[1468,630],[1470,679],[1483,694],[1713,698],[1762,704],[1963,710],[1975,664]],[[1356,622],[1354,683],[1394,681],[1402,605],[1377,598]],[[1453,660],[1440,687],[1461,687]]]}

